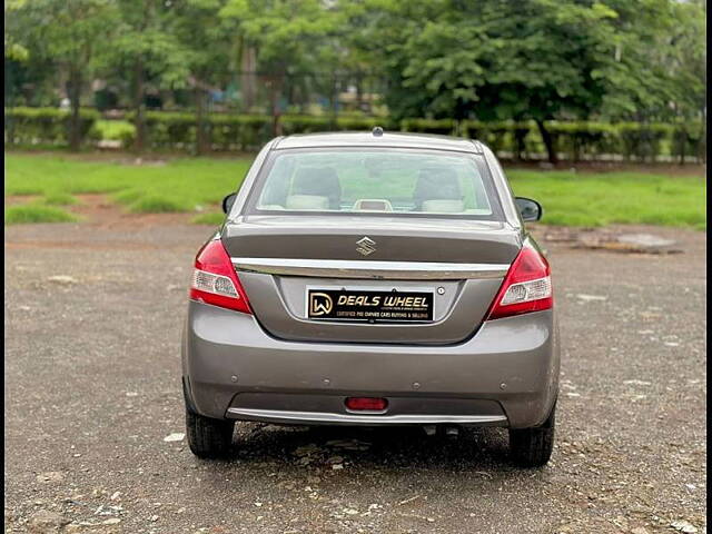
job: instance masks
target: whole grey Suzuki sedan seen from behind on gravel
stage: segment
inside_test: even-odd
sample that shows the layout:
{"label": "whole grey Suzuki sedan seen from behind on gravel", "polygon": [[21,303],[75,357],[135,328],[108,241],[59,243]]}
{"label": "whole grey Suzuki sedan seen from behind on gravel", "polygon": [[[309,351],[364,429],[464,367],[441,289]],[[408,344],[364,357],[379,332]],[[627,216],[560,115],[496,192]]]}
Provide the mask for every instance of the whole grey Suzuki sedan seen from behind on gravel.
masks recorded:
{"label": "whole grey Suzuki sedan seen from behind on gravel", "polygon": [[548,461],[558,392],[550,266],[493,152],[451,137],[279,137],[199,250],[182,334],[199,457],[235,422],[508,428]]}

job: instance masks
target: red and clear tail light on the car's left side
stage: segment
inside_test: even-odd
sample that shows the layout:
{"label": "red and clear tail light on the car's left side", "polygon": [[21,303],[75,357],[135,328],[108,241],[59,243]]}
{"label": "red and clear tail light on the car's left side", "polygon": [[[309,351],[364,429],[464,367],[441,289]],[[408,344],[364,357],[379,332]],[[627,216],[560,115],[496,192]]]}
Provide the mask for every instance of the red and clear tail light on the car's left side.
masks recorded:
{"label": "red and clear tail light on the car's left side", "polygon": [[221,308],[251,314],[247,295],[222,241],[208,241],[196,256],[190,298]]}

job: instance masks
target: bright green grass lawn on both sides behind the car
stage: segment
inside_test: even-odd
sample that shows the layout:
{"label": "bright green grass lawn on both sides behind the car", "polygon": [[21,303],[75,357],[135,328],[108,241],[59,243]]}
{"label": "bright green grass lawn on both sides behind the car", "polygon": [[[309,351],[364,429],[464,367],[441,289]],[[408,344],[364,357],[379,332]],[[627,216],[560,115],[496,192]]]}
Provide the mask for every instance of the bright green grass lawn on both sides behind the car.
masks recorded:
{"label": "bright green grass lawn on both sides behind the car", "polygon": [[[222,215],[214,206],[241,184],[249,164],[246,158],[185,158],[136,166],[62,155],[6,154],[6,196],[42,196],[29,207],[34,210],[32,217],[18,215],[19,207],[7,208],[6,224],[42,217],[55,220],[57,212],[70,215],[58,206],[75,202],[72,195],[105,192],[129,211],[201,211],[195,222],[217,225]],[[535,198],[544,206],[544,224],[706,228],[702,176],[520,169],[507,175],[516,195]],[[206,212],[206,208],[210,209]]]}

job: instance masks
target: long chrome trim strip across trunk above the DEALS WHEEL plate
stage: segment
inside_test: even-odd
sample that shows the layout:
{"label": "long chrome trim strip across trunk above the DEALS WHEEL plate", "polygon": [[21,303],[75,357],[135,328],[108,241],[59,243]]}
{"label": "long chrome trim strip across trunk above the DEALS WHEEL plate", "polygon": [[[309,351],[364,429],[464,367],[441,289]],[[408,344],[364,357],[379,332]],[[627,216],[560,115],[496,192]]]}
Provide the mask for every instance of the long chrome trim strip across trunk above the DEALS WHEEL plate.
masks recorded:
{"label": "long chrome trim strip across trunk above the DEALS WHEEL plate", "polygon": [[506,264],[449,264],[427,261],[368,261],[344,259],[231,258],[236,270],[319,278],[389,280],[461,280],[502,278]]}

